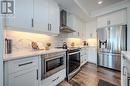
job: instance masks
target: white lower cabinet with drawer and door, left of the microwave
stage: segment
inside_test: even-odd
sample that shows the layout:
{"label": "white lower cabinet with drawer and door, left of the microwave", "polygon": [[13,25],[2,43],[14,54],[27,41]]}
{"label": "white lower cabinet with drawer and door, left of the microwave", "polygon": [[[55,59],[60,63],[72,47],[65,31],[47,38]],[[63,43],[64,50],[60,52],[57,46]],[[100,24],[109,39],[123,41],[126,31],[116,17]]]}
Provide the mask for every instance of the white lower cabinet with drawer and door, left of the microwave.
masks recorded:
{"label": "white lower cabinet with drawer and door, left of the microwave", "polygon": [[4,62],[4,86],[38,86],[38,56]]}

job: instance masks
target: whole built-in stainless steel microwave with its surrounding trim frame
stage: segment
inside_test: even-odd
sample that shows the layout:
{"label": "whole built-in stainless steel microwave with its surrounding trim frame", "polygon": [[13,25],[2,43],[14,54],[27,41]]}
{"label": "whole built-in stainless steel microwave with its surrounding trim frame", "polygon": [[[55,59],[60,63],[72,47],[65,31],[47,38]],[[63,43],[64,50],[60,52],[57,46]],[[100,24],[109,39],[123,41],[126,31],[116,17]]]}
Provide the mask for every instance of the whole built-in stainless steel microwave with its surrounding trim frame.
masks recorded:
{"label": "whole built-in stainless steel microwave with its surrounding trim frame", "polygon": [[57,52],[41,56],[41,80],[66,67],[66,53]]}

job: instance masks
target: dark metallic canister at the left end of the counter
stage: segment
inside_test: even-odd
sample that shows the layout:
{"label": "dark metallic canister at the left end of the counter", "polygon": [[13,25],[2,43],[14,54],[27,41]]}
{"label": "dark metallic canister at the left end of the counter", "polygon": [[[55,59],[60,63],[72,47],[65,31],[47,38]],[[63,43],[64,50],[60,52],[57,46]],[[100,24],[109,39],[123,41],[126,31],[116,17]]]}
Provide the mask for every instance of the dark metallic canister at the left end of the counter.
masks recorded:
{"label": "dark metallic canister at the left end of the counter", "polygon": [[11,39],[5,39],[5,54],[11,54],[12,53],[12,40]]}

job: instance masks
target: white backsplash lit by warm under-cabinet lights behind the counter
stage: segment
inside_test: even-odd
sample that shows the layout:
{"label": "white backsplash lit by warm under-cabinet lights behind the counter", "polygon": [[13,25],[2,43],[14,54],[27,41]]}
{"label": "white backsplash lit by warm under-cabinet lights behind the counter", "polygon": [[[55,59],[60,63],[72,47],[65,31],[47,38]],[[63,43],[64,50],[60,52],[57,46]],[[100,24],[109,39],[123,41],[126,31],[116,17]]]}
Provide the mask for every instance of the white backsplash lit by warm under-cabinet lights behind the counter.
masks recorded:
{"label": "white backsplash lit by warm under-cabinet lights behind the counter", "polygon": [[23,51],[23,50],[32,50],[31,42],[35,41],[40,44],[40,46],[45,47],[49,42],[52,44],[51,48],[62,46],[63,42],[67,42],[70,45],[72,42],[75,42],[75,45],[81,45],[80,39],[70,39],[65,33],[61,33],[58,36],[48,36],[45,34],[36,34],[28,32],[19,32],[19,31],[5,31],[5,38],[12,39],[12,48],[13,52]]}

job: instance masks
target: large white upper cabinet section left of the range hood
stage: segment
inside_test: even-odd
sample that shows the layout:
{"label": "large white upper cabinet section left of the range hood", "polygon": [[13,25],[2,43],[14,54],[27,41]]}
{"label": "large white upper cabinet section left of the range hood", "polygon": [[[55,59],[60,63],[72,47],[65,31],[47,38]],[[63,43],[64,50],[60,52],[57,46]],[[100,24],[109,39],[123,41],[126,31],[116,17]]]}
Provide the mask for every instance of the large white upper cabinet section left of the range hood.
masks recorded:
{"label": "large white upper cabinet section left of the range hood", "polygon": [[54,0],[15,0],[15,18],[7,18],[11,30],[59,34],[60,11]]}

